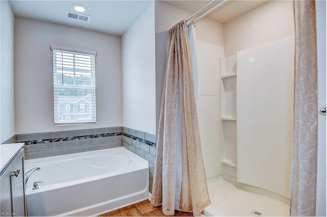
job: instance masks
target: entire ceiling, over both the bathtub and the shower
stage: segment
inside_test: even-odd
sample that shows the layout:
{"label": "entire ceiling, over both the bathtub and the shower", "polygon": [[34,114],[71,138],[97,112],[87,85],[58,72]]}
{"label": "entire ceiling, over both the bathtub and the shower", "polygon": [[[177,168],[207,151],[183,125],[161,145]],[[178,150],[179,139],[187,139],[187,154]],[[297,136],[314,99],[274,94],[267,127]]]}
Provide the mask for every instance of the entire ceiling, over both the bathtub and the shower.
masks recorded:
{"label": "entire ceiling, over both the bathtub and the shower", "polygon": [[[209,2],[208,0],[156,1],[164,2],[192,13]],[[123,35],[152,2],[153,0],[12,0],[10,4],[15,16],[55,22],[113,35]],[[217,1],[217,4],[219,2]],[[66,10],[74,12],[72,6],[74,3],[80,3],[87,7],[83,14],[91,16],[89,23],[66,18]],[[208,18],[224,23],[265,3],[267,1],[232,0],[210,14]]]}

